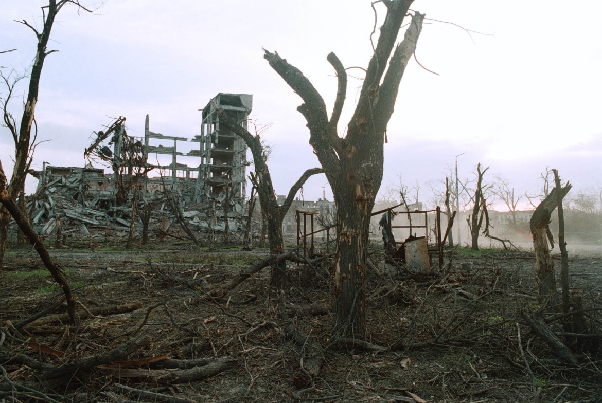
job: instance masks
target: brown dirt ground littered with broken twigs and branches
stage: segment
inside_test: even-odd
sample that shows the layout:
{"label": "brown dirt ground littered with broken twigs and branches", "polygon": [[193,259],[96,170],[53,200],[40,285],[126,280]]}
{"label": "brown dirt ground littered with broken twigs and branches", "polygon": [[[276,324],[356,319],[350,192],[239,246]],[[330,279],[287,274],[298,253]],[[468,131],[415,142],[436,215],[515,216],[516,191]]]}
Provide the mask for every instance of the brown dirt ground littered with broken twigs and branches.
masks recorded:
{"label": "brown dirt ground littered with broken twigs and branches", "polygon": [[[328,259],[314,267],[291,263],[283,295],[269,288],[264,269],[223,297],[209,298],[267,250],[72,244],[51,253],[81,303],[78,312],[108,306],[123,312],[88,315],[77,327],[42,318],[18,333],[17,322],[63,294],[35,251],[11,245],[0,271],[2,402],[602,402],[600,337],[582,337],[577,345],[561,321],[551,321],[577,358],[571,365],[521,319],[521,311],[539,309],[528,251],[449,251],[441,271],[398,270],[384,265],[375,247],[369,343],[352,345],[331,339]],[[559,269],[559,256],[554,262]],[[569,245],[569,270],[584,307],[600,308],[602,249],[575,255]],[[46,317],[63,312],[55,306]],[[599,331],[600,311],[586,312],[586,321]],[[305,340],[294,342],[287,324]],[[52,374],[27,361],[60,371],[132,342],[140,346],[131,354],[54,384]],[[218,370],[181,382],[161,375],[168,357],[209,358]],[[316,360],[320,372],[311,376]],[[174,397],[145,397],[127,387]]]}

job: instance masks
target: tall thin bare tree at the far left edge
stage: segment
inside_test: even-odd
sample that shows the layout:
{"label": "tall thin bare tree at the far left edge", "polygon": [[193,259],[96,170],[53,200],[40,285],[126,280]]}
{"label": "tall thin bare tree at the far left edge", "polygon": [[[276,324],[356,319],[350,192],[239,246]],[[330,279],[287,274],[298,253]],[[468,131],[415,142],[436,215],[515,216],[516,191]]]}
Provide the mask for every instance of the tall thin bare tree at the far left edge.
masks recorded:
{"label": "tall thin bare tree at the far left edge", "polygon": [[[23,105],[23,114],[19,123],[11,117],[8,112],[8,101],[10,100],[10,93],[7,97],[2,99],[4,105],[4,124],[10,131],[14,140],[14,167],[13,174],[10,179],[10,183],[6,186],[8,195],[11,199],[16,200],[20,193],[23,193],[25,186],[25,177],[29,164],[31,164],[31,153],[33,152],[31,132],[35,125],[35,112],[38,101],[38,92],[40,88],[40,78],[42,76],[42,68],[46,56],[55,50],[49,51],[47,49],[48,40],[54,25],[55,18],[61,8],[67,4],[75,4],[80,10],[92,12],[88,8],[84,7],[79,0],[48,0],[48,5],[42,7],[42,30],[39,31],[36,28],[36,24],[31,24],[26,20],[20,21],[23,25],[31,29],[37,38],[37,51],[34,57],[34,63],[31,67],[31,73],[29,74],[29,87],[27,91],[27,97],[25,99],[25,105]],[[0,265],[2,258],[4,257],[4,251],[6,249],[8,224],[10,221],[10,215],[6,209],[2,209],[0,217]]]}

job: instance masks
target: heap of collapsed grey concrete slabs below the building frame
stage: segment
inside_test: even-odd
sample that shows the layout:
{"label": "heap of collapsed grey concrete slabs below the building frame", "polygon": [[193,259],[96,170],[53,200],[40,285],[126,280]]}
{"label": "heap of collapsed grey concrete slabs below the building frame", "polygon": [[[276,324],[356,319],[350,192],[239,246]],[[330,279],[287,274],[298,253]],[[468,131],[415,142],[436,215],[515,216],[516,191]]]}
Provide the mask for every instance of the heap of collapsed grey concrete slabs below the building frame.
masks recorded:
{"label": "heap of collapsed grey concrete slabs below the building frame", "polygon": [[[88,236],[93,229],[114,229],[117,235],[125,236],[132,218],[132,191],[126,191],[125,200],[119,205],[118,189],[113,174],[105,174],[98,168],[52,167],[45,165],[43,171],[34,173],[39,178],[36,193],[28,200],[34,230],[42,236],[51,236],[60,224],[63,235]],[[123,180],[123,179],[122,179]],[[124,186],[126,189],[129,186]],[[224,232],[226,197],[220,194],[211,202],[186,203],[190,200],[179,189],[161,189],[149,186],[153,192],[138,190],[137,211],[149,211],[149,229],[155,233],[167,232],[177,222],[175,209],[179,209],[185,224],[199,235]],[[228,230],[244,229],[244,206],[230,201]],[[140,217],[134,221],[135,230],[142,229]],[[165,234],[164,234],[165,235]]]}

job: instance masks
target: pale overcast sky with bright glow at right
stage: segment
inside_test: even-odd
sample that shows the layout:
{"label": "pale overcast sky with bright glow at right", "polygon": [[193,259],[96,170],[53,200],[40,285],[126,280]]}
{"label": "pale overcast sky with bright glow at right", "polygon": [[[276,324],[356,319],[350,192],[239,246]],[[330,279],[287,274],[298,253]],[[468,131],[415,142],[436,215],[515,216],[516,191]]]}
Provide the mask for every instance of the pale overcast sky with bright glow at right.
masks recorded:
{"label": "pale overcast sky with bright glow at right", "polygon": [[[26,72],[36,40],[13,20],[41,25],[41,0],[5,0],[0,14],[2,72]],[[203,108],[217,93],[253,94],[251,118],[271,125],[270,168],[278,194],[318,165],[308,129],[296,111],[300,98],[262,57],[278,53],[312,81],[332,110],[337,81],[326,55],[344,66],[366,67],[374,14],[368,0],[95,0],[94,14],[63,8],[52,31],[36,118],[42,162],[82,166],[93,131],[127,118],[130,135],[151,131],[193,137]],[[382,4],[375,5],[382,10]],[[459,177],[489,166],[485,182],[501,174],[518,193],[541,188],[546,166],[579,191],[602,185],[602,2],[532,0],[416,0],[426,13],[418,61],[402,79],[388,125],[381,192],[399,184],[444,180],[458,157]],[[382,13],[378,25],[382,23]],[[456,25],[457,24],[457,25]],[[462,27],[462,28],[460,28]],[[482,32],[482,34],[465,29]],[[403,34],[400,34],[400,40]],[[349,70],[346,114],[353,111],[362,70]],[[24,82],[23,82],[24,84]],[[0,90],[4,93],[4,90]],[[25,85],[13,111],[20,117]],[[346,119],[347,118],[347,119]],[[0,159],[11,171],[13,141],[0,132]],[[305,186],[306,200],[332,200],[324,176]],[[34,183],[28,185],[33,189]]]}

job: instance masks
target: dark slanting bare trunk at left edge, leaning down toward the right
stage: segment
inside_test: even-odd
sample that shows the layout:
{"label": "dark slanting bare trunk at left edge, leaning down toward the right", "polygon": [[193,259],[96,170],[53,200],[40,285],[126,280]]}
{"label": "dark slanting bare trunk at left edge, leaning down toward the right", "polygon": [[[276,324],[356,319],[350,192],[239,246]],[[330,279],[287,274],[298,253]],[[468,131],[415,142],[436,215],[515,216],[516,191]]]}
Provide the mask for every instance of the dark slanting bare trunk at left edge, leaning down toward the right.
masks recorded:
{"label": "dark slanting bare trunk at left edge, leaning down toward the right", "polygon": [[63,268],[59,266],[46,249],[45,245],[42,242],[42,239],[37,235],[34,229],[29,224],[29,220],[22,214],[19,207],[14,202],[13,198],[11,198],[10,194],[6,189],[6,176],[4,174],[4,169],[2,168],[2,162],[0,161],[0,203],[7,209],[11,217],[14,218],[14,221],[19,226],[19,229],[25,234],[26,238],[29,239],[31,245],[36,249],[37,253],[42,259],[42,262],[52,274],[52,277],[55,281],[57,281],[58,286],[63,290],[63,294],[67,299],[67,313],[69,313],[69,318],[71,319],[71,323],[75,324],[75,297],[71,293],[71,288],[69,287],[69,283],[67,283],[67,278],[63,272]]}

